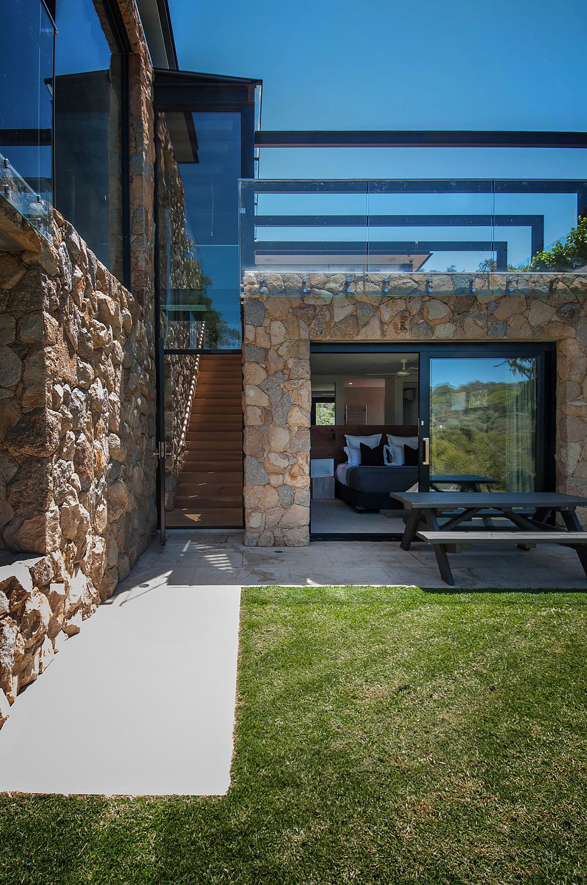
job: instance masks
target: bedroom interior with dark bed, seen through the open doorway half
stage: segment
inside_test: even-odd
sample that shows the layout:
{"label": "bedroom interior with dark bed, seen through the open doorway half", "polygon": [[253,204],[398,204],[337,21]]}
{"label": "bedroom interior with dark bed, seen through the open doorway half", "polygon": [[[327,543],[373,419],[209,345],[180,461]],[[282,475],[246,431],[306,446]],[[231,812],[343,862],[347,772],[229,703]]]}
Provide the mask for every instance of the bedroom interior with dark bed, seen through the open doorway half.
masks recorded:
{"label": "bedroom interior with dark bed, seen through the open doorway half", "polygon": [[312,535],[389,535],[418,481],[418,354],[312,353]]}

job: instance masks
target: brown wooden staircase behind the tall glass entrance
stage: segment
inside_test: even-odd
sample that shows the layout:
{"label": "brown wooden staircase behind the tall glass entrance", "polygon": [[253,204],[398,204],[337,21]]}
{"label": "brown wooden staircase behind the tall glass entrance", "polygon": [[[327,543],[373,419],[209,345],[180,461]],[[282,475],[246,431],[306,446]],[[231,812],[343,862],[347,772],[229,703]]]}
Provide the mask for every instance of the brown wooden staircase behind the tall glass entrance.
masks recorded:
{"label": "brown wooden staircase behind the tall glass entrance", "polygon": [[202,354],[175,507],[167,525],[242,526],[240,354]]}

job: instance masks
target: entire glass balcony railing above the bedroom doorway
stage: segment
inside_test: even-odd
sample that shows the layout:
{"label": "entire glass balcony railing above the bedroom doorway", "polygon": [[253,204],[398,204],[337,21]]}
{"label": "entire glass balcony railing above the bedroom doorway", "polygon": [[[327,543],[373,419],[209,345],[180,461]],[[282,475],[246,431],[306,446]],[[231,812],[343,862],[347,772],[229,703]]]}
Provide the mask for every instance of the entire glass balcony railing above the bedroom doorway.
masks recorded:
{"label": "entire glass balcony railing above the bedroom doorway", "polygon": [[240,181],[245,294],[283,294],[275,273],[291,295],[316,274],[324,296],[587,294],[587,182]]}

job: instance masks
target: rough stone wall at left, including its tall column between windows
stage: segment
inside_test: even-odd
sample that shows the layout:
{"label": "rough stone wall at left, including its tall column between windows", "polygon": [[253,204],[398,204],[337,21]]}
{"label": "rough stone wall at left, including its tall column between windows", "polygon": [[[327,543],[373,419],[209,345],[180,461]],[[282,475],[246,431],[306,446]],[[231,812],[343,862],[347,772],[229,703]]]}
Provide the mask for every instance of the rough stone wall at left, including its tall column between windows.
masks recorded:
{"label": "rough stone wall at left, including its tall column between windows", "polygon": [[133,0],[131,289],[55,212],[0,199],[0,725],[156,528],[153,72]]}

